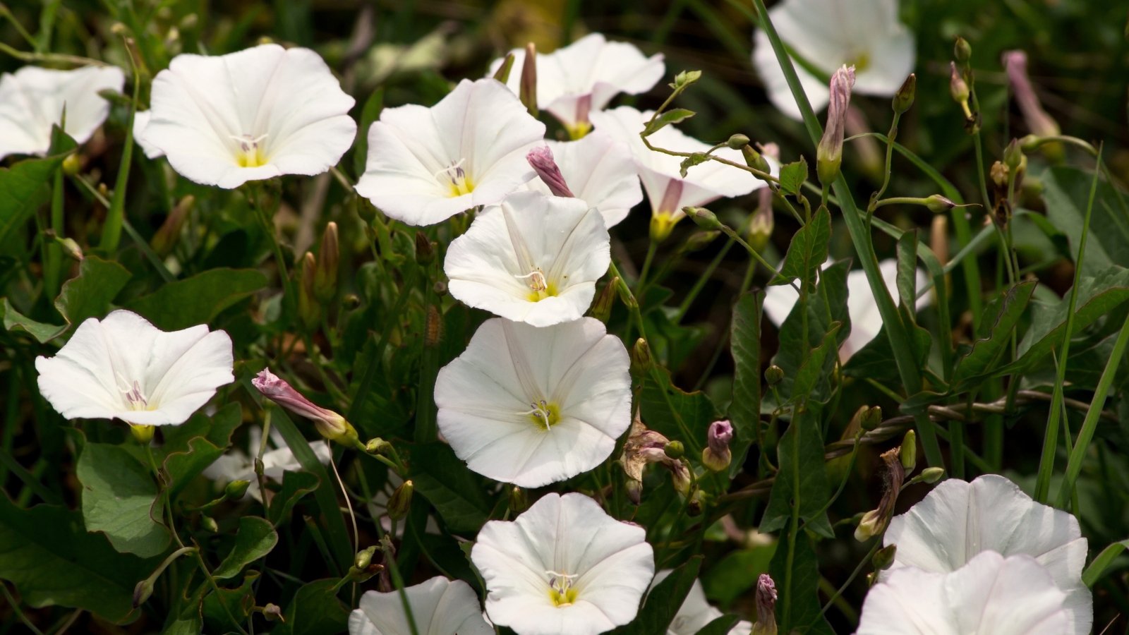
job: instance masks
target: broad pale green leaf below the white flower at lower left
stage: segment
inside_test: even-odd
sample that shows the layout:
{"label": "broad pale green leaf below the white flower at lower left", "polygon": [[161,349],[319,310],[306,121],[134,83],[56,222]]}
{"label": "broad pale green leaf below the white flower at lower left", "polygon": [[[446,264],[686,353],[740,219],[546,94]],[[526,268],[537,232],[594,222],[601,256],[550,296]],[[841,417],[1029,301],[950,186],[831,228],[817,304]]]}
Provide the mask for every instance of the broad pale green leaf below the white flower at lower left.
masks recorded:
{"label": "broad pale green leaf below the white flower at lower left", "polygon": [[157,484],[132,454],[119,445],[87,443],[76,473],[87,531],[100,531],[119,551],[142,558],[168,548],[172,536],[155,520],[161,514]]}

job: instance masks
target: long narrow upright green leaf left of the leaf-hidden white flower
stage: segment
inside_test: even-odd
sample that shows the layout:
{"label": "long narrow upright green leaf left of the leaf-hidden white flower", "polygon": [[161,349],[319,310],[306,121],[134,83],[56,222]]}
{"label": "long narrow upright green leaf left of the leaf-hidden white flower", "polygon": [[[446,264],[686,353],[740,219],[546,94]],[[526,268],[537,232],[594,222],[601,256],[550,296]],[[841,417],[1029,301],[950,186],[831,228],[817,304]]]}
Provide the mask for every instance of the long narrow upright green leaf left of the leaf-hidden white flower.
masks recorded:
{"label": "long narrow upright green leaf left of the leaf-hidden white flower", "polygon": [[741,471],[745,454],[756,441],[761,425],[761,303],[763,294],[744,294],[733,307],[730,351],[733,353],[733,401],[729,421],[734,441],[729,476]]}

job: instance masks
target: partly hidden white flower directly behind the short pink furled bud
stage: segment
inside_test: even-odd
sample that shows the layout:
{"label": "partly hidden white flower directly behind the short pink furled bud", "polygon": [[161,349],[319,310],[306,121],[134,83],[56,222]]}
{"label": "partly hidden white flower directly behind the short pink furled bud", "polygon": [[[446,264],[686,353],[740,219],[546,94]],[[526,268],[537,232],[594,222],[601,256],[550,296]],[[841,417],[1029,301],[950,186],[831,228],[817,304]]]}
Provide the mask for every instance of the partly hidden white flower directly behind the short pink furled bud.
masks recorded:
{"label": "partly hidden white flower directly behind the short pink furled bud", "polygon": [[[618,225],[642,201],[631,154],[611,134],[599,131],[579,141],[545,141],[545,145],[572,195],[599,210],[607,227]],[[530,181],[528,188],[551,193],[541,179]]]}

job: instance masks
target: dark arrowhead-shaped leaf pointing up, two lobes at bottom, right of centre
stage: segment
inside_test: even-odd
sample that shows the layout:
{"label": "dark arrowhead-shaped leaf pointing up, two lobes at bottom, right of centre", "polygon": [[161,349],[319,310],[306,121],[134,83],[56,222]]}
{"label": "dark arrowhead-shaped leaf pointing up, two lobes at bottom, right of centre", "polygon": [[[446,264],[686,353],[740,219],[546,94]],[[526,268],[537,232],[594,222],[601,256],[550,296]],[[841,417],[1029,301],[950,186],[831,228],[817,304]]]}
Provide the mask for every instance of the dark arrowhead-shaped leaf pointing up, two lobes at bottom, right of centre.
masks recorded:
{"label": "dark arrowhead-shaped leaf pointing up, two lobes at bottom, right of centre", "polygon": [[[832,538],[824,505],[830,496],[826,464],[823,461],[823,434],[817,408],[805,408],[793,418],[777,445],[777,472],[769,504],[761,519],[761,533],[782,529],[791,520],[793,507],[807,528]],[[777,551],[785,550],[781,546]],[[777,579],[779,580],[779,579]]]}

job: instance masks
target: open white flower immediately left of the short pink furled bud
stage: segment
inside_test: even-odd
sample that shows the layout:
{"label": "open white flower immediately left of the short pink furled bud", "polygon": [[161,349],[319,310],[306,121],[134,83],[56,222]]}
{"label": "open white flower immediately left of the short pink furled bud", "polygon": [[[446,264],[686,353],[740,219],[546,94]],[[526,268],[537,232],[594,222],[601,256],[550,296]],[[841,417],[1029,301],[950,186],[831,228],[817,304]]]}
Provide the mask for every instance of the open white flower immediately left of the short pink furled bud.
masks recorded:
{"label": "open white flower immediately left of the short pink furled bud", "polygon": [[501,202],[533,179],[525,160],[545,134],[495,79],[464,79],[427,108],[385,108],[368,130],[368,163],[357,192],[409,225],[434,225]]}

